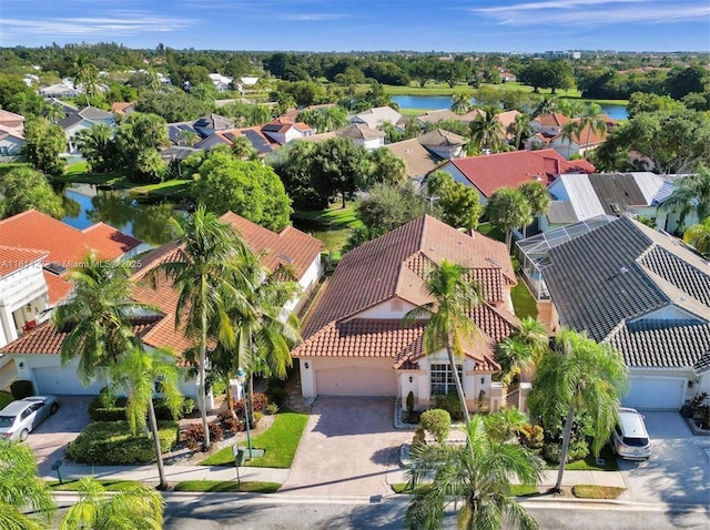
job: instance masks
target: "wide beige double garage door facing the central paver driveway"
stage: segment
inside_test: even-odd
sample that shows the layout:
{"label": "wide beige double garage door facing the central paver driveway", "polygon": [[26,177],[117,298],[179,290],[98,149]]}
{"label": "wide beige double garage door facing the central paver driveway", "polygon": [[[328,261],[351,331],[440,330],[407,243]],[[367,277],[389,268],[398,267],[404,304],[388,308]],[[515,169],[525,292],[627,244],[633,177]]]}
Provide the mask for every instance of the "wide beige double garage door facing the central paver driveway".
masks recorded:
{"label": "wide beige double garage door facing the central paver driveway", "polygon": [[395,396],[397,376],[392,359],[318,359],[318,396]]}

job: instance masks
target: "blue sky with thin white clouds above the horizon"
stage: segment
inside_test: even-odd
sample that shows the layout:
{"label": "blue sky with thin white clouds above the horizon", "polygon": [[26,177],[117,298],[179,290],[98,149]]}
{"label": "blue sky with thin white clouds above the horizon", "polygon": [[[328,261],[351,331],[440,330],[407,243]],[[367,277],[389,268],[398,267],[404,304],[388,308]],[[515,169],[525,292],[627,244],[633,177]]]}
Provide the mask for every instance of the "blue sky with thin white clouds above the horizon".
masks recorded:
{"label": "blue sky with thin white clouds above the horizon", "polygon": [[0,0],[0,47],[710,51],[708,0]]}

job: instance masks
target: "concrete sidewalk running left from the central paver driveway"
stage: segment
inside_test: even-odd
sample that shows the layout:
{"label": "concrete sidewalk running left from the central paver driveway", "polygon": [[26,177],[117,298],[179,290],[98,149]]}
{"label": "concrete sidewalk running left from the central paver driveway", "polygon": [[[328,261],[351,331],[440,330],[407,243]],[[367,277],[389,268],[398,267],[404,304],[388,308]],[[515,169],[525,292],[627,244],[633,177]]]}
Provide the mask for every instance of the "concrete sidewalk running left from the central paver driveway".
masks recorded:
{"label": "concrete sidewalk running left from the central paver driveway", "polygon": [[[272,468],[240,468],[240,479],[242,481],[277,482],[283,483],[288,476],[288,469]],[[65,465],[60,468],[62,480],[79,479],[81,477],[93,476],[98,479],[108,480],[138,480],[141,482],[159,482],[158,466],[82,466]],[[57,472],[45,472],[42,476],[45,480],[57,480]],[[165,466],[165,478],[168,482],[182,482],[183,480],[236,480],[236,468],[233,466]]]}

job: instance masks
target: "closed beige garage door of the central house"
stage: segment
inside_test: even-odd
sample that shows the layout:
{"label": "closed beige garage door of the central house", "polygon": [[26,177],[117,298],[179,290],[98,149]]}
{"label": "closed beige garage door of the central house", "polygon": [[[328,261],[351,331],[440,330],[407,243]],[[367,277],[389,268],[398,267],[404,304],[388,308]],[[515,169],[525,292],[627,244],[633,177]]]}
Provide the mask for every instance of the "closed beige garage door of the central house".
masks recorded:
{"label": "closed beige garage door of the central house", "polygon": [[343,367],[315,373],[318,396],[394,396],[397,379],[392,367]]}

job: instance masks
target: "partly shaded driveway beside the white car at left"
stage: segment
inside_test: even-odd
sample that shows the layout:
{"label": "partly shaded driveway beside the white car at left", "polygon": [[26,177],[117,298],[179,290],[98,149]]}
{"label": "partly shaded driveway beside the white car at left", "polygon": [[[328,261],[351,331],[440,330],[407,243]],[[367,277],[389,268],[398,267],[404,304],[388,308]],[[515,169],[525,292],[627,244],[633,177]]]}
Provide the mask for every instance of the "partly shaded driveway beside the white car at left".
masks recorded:
{"label": "partly shaded driveway beside the white car at left", "polygon": [[64,459],[69,444],[91,419],[87,410],[93,396],[60,396],[59,410],[30,432],[27,445],[37,457],[40,476],[53,475],[51,466]]}

